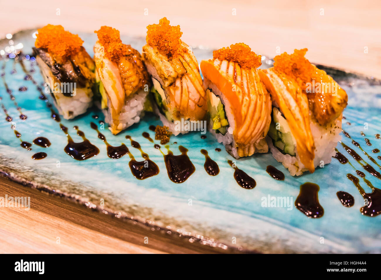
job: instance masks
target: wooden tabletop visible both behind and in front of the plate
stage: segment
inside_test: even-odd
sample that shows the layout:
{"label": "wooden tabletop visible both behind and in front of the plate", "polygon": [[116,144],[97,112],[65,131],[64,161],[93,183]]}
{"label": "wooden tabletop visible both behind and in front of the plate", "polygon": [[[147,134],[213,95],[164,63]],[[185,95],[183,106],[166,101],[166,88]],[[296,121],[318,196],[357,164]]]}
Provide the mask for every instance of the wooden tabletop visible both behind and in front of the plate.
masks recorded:
{"label": "wooden tabletop visible both behind and in front of the plate", "polygon": [[[163,16],[181,26],[182,40],[192,46],[245,42],[271,57],[306,47],[311,62],[381,78],[380,0],[21,0],[13,10],[0,10],[0,37],[48,23],[71,32],[108,25],[122,34],[144,36],[146,26]],[[0,196],[5,194],[31,196],[34,202],[30,211],[0,208],[0,253],[213,252],[0,179]],[[145,236],[152,240],[149,245]]]}

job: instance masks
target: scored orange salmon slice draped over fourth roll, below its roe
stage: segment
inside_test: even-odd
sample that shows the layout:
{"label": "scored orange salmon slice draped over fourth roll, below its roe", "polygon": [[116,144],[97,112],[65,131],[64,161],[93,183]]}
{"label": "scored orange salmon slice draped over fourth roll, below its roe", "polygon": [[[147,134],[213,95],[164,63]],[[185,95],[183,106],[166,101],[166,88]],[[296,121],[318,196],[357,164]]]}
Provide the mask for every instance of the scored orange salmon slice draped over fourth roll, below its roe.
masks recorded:
{"label": "scored orange salmon slice draped over fourth roll, below its roe", "polygon": [[[232,61],[203,60],[201,71],[204,78],[215,84],[223,94],[238,155],[245,157],[256,152],[256,145],[269,131],[271,123],[271,98],[261,82],[258,70],[240,67]],[[227,113],[228,114],[228,113]]]}

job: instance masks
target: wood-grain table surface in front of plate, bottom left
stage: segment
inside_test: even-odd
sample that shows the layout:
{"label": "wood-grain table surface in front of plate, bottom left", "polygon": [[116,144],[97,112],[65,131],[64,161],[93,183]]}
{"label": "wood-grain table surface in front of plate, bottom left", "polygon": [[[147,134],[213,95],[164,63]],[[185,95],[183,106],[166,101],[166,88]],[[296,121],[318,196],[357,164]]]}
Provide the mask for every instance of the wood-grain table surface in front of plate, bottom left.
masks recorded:
{"label": "wood-grain table surface in front of plate, bottom left", "polygon": [[111,218],[0,177],[0,197],[5,195],[30,197],[30,210],[0,207],[0,253],[227,252]]}

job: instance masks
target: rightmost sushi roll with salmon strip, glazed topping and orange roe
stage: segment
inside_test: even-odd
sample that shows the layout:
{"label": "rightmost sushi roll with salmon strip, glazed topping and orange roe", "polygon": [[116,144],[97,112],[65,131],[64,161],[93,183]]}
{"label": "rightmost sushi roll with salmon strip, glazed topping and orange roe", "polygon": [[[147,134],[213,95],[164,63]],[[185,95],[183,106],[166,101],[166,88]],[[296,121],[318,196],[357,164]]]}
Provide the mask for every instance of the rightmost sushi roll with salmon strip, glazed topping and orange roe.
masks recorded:
{"label": "rightmost sushi roll with salmon strip, glazed topping and orange roe", "polygon": [[348,100],[333,78],[304,58],[306,51],[275,56],[274,67],[259,70],[273,104],[267,143],[293,176],[331,162]]}

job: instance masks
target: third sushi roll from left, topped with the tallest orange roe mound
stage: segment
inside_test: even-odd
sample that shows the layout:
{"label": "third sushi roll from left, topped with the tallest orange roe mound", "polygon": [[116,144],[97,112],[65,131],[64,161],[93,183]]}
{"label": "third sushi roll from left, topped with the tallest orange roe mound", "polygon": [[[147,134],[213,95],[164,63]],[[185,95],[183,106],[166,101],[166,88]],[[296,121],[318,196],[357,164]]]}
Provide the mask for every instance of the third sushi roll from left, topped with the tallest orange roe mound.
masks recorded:
{"label": "third sushi roll from left, topped with the tallest orange roe mound", "polygon": [[200,122],[207,112],[199,64],[192,49],[181,41],[180,26],[166,18],[147,26],[143,60],[152,75],[155,112],[174,134],[187,133],[179,122]]}

